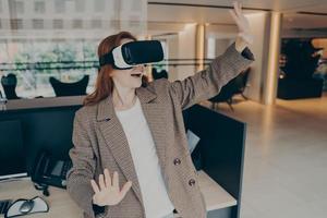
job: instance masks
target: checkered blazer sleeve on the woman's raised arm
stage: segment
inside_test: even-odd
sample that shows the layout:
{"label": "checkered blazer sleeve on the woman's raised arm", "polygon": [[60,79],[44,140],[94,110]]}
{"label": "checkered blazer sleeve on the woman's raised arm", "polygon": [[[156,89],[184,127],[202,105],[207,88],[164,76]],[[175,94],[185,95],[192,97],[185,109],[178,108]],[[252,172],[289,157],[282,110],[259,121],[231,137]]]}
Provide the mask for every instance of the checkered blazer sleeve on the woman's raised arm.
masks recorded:
{"label": "checkered blazer sleeve on the woman's raised arm", "polygon": [[169,90],[175,95],[182,109],[216,96],[222,86],[234,78],[254,61],[254,56],[246,47],[242,53],[235,49],[235,43],[223,55],[217,57],[210,65],[183,81],[169,84]]}

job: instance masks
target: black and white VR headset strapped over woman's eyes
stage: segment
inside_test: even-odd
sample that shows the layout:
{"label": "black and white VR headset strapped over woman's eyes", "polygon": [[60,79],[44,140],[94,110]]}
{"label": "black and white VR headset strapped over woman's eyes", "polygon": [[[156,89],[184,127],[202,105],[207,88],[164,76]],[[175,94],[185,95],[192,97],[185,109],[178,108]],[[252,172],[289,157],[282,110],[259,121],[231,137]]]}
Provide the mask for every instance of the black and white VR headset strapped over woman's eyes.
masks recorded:
{"label": "black and white VR headset strapped over woman's eyes", "polygon": [[126,70],[138,64],[164,60],[164,50],[158,40],[140,40],[123,44],[99,57],[100,66],[111,64],[113,69]]}

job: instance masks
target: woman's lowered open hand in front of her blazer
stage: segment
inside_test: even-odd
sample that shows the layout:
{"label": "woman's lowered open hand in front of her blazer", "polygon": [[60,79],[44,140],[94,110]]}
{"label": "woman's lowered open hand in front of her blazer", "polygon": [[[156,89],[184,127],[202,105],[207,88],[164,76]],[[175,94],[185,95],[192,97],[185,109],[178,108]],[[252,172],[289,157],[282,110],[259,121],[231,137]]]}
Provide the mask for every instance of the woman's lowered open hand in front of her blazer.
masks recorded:
{"label": "woman's lowered open hand in front of her blazer", "polygon": [[105,178],[104,174],[99,175],[99,186],[95,180],[90,180],[90,184],[95,192],[93,195],[93,204],[98,206],[117,205],[122,201],[122,198],[124,198],[125,194],[132,186],[132,182],[129,181],[120,191],[118,172],[113,172],[113,178],[111,181],[108,169],[105,169]]}

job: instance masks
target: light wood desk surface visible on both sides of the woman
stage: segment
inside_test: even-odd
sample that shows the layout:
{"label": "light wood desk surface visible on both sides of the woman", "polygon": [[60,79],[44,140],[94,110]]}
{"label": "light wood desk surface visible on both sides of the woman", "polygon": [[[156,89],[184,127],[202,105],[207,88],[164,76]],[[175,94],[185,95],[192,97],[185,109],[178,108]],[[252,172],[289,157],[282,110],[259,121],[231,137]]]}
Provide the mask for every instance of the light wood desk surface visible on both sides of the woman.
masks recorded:
{"label": "light wood desk surface visible on both sides of the woman", "polygon": [[[221,209],[237,205],[237,201],[217,184],[204,171],[198,171],[199,189],[204,195],[207,210]],[[35,190],[29,180],[8,181],[0,183],[0,199],[33,198],[41,196],[49,205],[48,213],[28,215],[31,218],[82,218],[82,210],[71,199],[68,192],[62,189],[49,187],[50,196],[43,196],[40,191]],[[3,216],[0,216],[1,218]],[[22,216],[23,217],[23,216]]]}

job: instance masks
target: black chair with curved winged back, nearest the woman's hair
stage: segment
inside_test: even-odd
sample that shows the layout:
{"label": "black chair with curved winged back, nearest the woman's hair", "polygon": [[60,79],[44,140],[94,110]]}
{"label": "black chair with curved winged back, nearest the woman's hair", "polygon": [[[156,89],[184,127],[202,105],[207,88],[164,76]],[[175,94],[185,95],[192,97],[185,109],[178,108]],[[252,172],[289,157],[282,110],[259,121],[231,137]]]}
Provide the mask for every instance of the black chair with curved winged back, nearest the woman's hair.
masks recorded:
{"label": "black chair with curved winged back, nearest the woman's hair", "polygon": [[50,76],[50,84],[56,93],[56,96],[80,96],[86,95],[86,87],[89,76],[84,77],[75,83],[62,83],[61,81]]}

